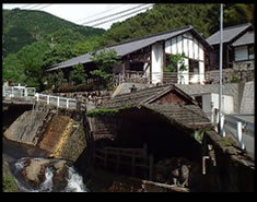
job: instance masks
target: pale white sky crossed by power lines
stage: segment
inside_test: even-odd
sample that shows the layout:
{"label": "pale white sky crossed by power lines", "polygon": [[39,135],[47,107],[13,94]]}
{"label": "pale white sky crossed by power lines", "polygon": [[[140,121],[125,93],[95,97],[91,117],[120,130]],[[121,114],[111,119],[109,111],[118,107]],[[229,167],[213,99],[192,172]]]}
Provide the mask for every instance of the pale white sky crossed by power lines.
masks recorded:
{"label": "pale white sky crossed by power lines", "polygon": [[40,10],[79,25],[108,29],[113,23],[145,12],[151,5],[153,3],[3,3],[2,8]]}

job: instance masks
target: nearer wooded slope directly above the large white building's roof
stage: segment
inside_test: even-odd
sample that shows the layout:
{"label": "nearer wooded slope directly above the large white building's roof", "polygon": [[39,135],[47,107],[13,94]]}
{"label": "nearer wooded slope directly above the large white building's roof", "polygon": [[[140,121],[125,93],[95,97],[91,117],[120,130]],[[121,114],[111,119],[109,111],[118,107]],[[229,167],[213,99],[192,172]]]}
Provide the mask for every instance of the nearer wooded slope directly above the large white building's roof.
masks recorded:
{"label": "nearer wooded slope directly above the large white building's roof", "polygon": [[[104,34],[102,45],[135,39],[186,25],[192,25],[203,37],[219,29],[220,4],[156,3],[153,9],[122,23],[115,23]],[[254,4],[225,4],[224,26],[254,23]]]}

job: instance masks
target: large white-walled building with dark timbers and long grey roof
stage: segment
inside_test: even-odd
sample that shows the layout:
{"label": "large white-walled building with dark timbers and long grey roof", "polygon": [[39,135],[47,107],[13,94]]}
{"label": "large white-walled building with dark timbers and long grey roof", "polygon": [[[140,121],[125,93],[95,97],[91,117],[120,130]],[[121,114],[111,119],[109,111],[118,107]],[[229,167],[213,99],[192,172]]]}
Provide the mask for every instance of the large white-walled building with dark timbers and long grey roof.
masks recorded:
{"label": "large white-walled building with dark timbers and long grey roof", "polygon": [[[119,83],[124,81],[144,83],[205,83],[205,69],[208,66],[208,55],[212,47],[192,26],[185,26],[143,38],[107,46],[98,51],[115,50],[121,57],[122,64],[114,68],[115,78]],[[175,74],[166,71],[168,57],[185,54],[186,70]],[[85,70],[96,69],[91,61],[91,55],[60,62],[47,72],[63,70],[69,72],[72,66],[82,63]],[[67,73],[69,74],[69,73]]]}

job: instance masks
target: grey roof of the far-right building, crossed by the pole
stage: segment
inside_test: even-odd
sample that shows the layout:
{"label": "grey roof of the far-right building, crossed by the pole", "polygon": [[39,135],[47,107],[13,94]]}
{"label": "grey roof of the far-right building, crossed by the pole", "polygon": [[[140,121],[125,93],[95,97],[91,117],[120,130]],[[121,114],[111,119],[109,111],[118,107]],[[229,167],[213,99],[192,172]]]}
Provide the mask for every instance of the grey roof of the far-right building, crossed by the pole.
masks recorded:
{"label": "grey roof of the far-right building, crossed by the pole", "polygon": [[[246,28],[248,28],[250,26],[253,26],[250,23],[246,23],[246,24],[225,27],[223,29],[223,43],[230,43],[238,34],[241,34],[242,32],[244,32]],[[215,32],[213,35],[211,35],[209,38],[207,38],[207,41],[210,45],[220,44],[220,31]]]}

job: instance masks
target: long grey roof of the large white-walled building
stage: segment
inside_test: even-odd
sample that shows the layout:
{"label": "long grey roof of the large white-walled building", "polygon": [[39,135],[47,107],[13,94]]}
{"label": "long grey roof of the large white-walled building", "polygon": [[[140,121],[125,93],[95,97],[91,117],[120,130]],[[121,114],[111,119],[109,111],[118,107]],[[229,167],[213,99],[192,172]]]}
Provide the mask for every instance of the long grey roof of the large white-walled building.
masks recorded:
{"label": "long grey roof of the large white-walled building", "polygon": [[[157,41],[167,40],[170,38],[173,38],[177,35],[180,35],[185,32],[188,32],[188,31],[192,32],[202,41],[202,44],[205,46],[207,46],[209,48],[211,47],[205,40],[205,38],[191,25],[189,25],[189,26],[184,26],[184,27],[180,27],[180,28],[172,29],[172,31],[168,31],[168,32],[147,36],[147,37],[143,37],[143,38],[139,38],[139,39],[135,39],[135,40],[129,40],[129,41],[107,46],[107,47],[105,47],[105,48],[103,48],[98,51],[114,49],[118,54],[118,56],[122,57],[122,56],[126,56],[126,55],[131,54],[133,51],[137,51],[139,49],[142,49],[144,47],[148,47],[152,44],[155,44]],[[60,63],[56,64],[55,67],[48,69],[47,71],[68,68],[68,67],[72,67],[72,66],[78,64],[78,63],[87,63],[87,62],[91,62],[90,58],[91,58],[91,54],[85,54],[85,55],[79,56],[77,58],[72,58],[70,60],[60,62]]]}

